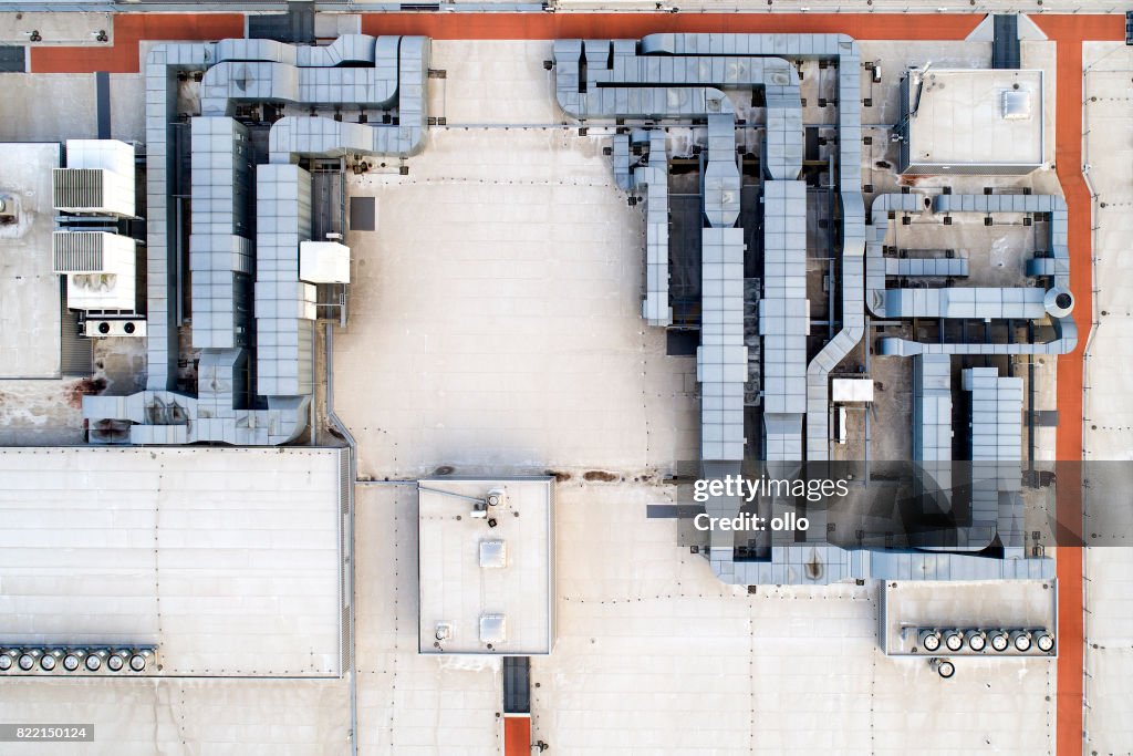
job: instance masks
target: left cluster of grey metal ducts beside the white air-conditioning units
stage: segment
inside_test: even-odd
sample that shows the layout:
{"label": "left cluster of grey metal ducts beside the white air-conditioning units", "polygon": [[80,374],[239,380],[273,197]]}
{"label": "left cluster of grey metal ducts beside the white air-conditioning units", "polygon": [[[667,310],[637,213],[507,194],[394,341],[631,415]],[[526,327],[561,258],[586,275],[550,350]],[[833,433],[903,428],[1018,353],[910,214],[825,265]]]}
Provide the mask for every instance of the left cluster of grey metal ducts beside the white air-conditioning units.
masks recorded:
{"label": "left cluster of grey metal ducts beside the white air-conditioning units", "polygon": [[[270,143],[288,153],[326,154],[355,150],[409,155],[426,127],[427,37],[344,35],[325,48],[296,48],[271,40],[159,44],[145,61],[147,145],[147,281],[150,333],[147,390],[130,397],[87,397],[84,417],[128,419],[131,443],[215,441],[241,445],[293,441],[306,427],[310,402],[314,287],[298,280],[298,243],[309,236],[309,176],[290,164],[261,168],[256,264],[247,238],[250,220],[250,146],[242,126],[225,116],[235,101],[374,107],[395,104],[400,122],[361,127],[347,138],[330,119],[289,119],[275,126]],[[342,67],[363,63],[363,67]],[[365,66],[372,63],[372,66]],[[211,68],[210,68],[211,66]],[[170,239],[179,216],[169,205],[173,175],[172,125],[177,121],[177,74],[205,71],[204,117],[191,121],[193,215],[189,265],[193,271],[193,339],[201,349],[198,396],[169,391],[176,382],[177,318],[171,294],[176,275]],[[284,122],[288,121],[288,122]],[[341,125],[340,125],[341,126]],[[356,126],[356,125],[352,125]],[[312,144],[314,143],[314,144]],[[357,145],[355,144],[357,143]],[[312,150],[312,147],[316,150]],[[263,201],[263,202],[259,202]],[[250,273],[256,270],[255,297]],[[254,307],[254,309],[253,309]],[[252,332],[257,320],[258,385],[246,384]],[[253,394],[267,396],[267,409],[244,409]]]}

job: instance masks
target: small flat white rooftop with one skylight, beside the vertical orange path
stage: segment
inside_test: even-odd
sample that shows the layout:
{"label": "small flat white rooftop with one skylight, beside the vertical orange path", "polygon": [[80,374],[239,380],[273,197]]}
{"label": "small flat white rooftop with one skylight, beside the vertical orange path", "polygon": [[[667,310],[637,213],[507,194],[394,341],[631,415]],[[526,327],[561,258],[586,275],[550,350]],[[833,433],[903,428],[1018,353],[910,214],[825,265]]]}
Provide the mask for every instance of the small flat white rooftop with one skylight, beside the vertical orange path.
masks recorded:
{"label": "small flat white rooftop with one skylight, beside the vertical orange path", "polygon": [[1042,164],[1042,71],[937,69],[910,73],[909,162]]}

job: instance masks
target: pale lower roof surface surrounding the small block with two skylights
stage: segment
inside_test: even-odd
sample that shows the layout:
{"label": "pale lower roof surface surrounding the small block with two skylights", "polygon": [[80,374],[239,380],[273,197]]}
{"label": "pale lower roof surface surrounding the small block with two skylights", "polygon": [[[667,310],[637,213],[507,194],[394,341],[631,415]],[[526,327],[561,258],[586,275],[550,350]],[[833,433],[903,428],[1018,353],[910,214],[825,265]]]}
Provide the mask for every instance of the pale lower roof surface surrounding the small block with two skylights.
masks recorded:
{"label": "pale lower roof surface surrounding the small block with two skylights", "polygon": [[[886,659],[875,588],[724,586],[673,520],[645,518],[671,493],[559,484],[559,640],[533,660],[536,739],[572,755],[1049,753],[1053,662],[963,660],[944,681]],[[497,665],[416,653],[415,499],[358,496],[360,753],[497,754]]]}

